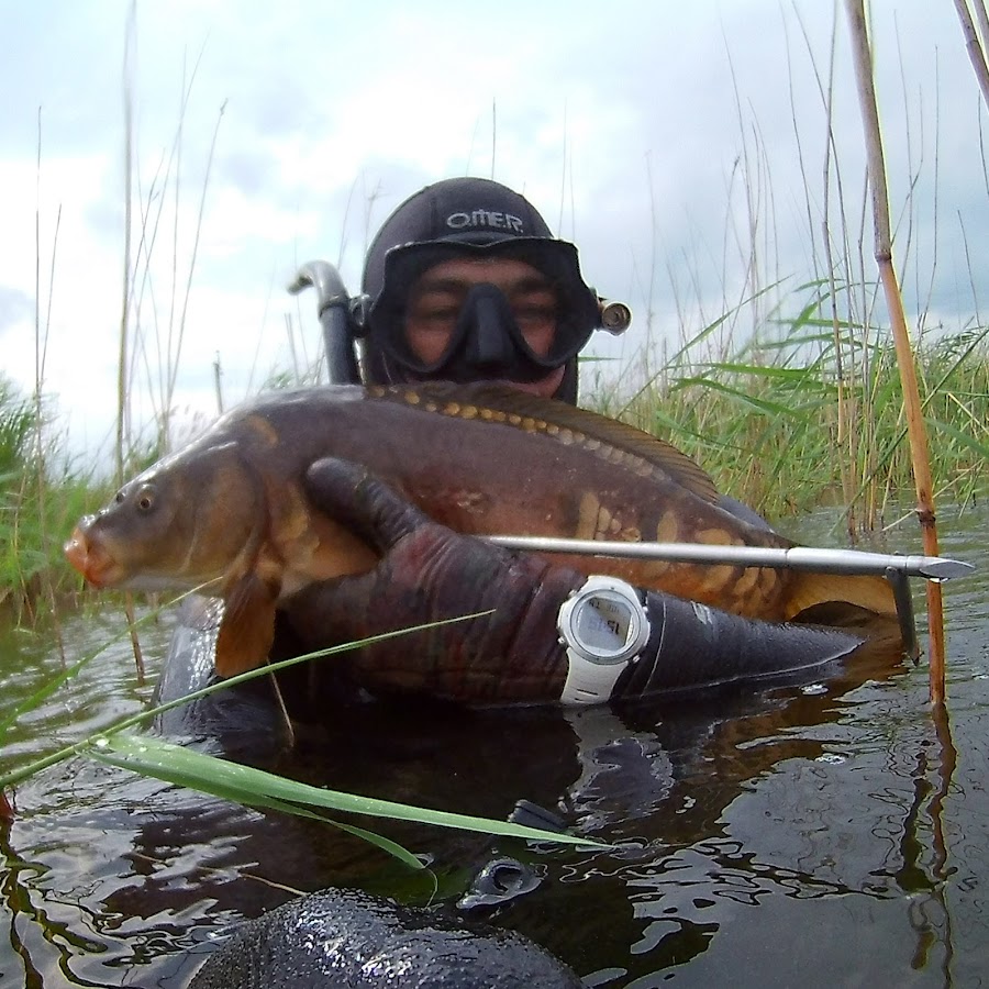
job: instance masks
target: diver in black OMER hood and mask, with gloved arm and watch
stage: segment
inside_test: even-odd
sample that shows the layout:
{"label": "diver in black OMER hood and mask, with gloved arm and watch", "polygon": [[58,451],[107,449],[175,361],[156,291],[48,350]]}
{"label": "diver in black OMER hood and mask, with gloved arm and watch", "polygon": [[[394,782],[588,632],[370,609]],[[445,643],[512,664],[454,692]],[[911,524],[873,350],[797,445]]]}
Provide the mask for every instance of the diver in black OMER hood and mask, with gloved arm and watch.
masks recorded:
{"label": "diver in black OMER hood and mask, with gloved arm and watch", "polygon": [[[601,302],[577,248],[518,192],[480,178],[416,192],[371,243],[363,291],[355,335],[365,385],[488,380],[576,404],[578,355],[600,327]],[[349,654],[347,676],[373,694],[598,704],[813,668],[860,644],[458,535],[354,464],[319,462],[307,488],[381,558],[368,574],[312,585],[286,602],[293,647],[482,613]],[[719,504],[768,527],[733,499]]]}

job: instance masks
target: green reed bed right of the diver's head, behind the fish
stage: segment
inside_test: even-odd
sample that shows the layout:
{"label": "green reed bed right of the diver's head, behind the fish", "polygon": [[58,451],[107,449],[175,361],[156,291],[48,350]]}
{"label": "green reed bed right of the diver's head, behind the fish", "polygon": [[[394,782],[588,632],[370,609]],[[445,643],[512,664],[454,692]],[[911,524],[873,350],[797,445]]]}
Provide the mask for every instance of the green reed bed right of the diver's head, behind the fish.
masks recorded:
{"label": "green reed bed right of the diver's head, behind the fish", "polygon": [[[912,490],[896,349],[847,319],[835,334],[831,304],[804,287],[784,301],[792,315],[713,353],[712,324],[659,371],[644,351],[587,403],[668,440],[773,520],[840,504],[851,533],[881,527]],[[989,488],[989,327],[929,333],[915,359],[938,500],[965,505]]]}

